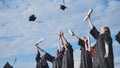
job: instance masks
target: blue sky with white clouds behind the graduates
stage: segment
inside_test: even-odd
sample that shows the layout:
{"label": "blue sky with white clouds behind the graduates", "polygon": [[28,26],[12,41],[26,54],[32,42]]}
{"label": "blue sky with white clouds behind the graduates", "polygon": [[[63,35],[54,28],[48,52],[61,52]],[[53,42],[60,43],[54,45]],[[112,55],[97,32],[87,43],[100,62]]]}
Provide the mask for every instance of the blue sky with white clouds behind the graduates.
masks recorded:
{"label": "blue sky with white clouds behind the graduates", "polygon": [[[67,9],[59,9],[62,0],[0,0],[0,67],[9,61],[14,68],[35,68],[35,46],[41,38],[40,46],[54,55],[58,44],[58,32],[73,45],[75,68],[79,68],[80,50],[77,41],[68,33],[73,30],[79,37],[88,36],[90,27],[84,17],[93,8],[91,19],[100,30],[102,25],[111,29],[115,55],[115,68],[120,68],[120,45],[115,35],[120,31],[119,0],[65,0]],[[35,14],[35,22],[28,17]],[[42,23],[37,23],[42,21]],[[92,39],[92,44],[95,43]],[[51,66],[51,63],[49,63]],[[50,67],[51,68],[51,67]]]}

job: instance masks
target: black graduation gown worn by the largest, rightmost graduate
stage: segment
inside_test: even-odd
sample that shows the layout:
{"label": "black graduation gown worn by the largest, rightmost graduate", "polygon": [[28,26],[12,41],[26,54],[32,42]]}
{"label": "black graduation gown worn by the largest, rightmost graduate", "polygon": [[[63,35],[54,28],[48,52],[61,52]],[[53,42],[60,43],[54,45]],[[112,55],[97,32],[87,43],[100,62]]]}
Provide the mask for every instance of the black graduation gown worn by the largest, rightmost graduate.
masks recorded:
{"label": "black graduation gown worn by the largest, rightmost graduate", "polygon": [[[96,43],[96,56],[94,58],[94,68],[114,68],[114,57],[113,57],[113,47],[112,38],[109,34],[100,34],[95,27],[90,31],[90,34],[97,41]],[[105,55],[105,42],[109,45],[109,57],[104,58]]]}

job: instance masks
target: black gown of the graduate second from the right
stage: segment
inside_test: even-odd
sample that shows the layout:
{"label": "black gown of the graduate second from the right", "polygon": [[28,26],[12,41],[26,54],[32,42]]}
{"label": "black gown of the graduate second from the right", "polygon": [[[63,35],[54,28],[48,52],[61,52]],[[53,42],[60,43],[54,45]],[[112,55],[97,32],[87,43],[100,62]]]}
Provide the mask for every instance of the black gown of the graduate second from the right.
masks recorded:
{"label": "black gown of the graduate second from the right", "polygon": [[90,52],[85,50],[85,42],[79,39],[78,45],[81,46],[80,68],[92,68],[92,58]]}

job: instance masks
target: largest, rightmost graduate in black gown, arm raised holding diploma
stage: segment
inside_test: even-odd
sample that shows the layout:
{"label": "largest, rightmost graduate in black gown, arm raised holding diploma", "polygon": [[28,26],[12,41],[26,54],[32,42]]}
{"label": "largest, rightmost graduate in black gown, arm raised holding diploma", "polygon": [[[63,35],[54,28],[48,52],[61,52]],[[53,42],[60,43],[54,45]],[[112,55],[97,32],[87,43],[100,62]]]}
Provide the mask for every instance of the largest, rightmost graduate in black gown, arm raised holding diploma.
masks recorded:
{"label": "largest, rightmost graduate in black gown, arm raised holding diploma", "polygon": [[109,28],[102,26],[101,32],[99,32],[93,26],[90,16],[88,16],[88,21],[91,27],[90,34],[96,40],[96,63],[94,64],[94,68],[114,68],[112,38]]}

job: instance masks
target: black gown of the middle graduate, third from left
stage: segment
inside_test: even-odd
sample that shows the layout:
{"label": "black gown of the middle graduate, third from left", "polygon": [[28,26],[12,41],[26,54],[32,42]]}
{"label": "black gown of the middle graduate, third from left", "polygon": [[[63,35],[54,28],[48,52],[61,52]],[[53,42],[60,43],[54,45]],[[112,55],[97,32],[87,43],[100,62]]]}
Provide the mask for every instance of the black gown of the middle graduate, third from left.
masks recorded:
{"label": "black gown of the middle graduate, third from left", "polygon": [[62,68],[74,68],[73,48],[70,43],[68,43],[67,50],[63,55]]}

